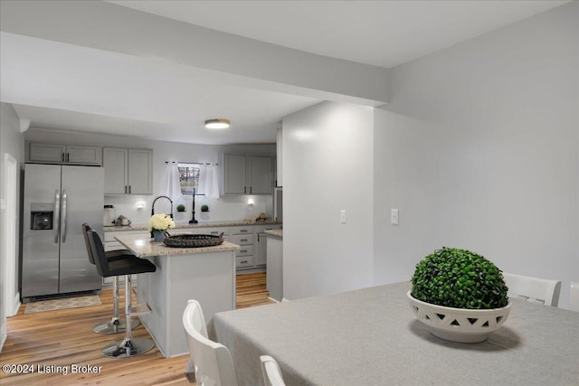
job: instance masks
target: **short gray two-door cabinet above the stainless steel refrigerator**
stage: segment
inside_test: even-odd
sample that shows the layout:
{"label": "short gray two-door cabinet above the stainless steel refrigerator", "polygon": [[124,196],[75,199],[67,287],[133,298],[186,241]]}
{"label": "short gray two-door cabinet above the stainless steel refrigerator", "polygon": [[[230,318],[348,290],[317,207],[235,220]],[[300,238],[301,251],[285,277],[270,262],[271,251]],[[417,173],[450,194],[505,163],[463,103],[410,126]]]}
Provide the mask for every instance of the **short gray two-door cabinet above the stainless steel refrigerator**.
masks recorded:
{"label": "short gray two-door cabinet above the stainless steel refrigerator", "polygon": [[43,164],[100,165],[100,146],[30,143],[30,162]]}

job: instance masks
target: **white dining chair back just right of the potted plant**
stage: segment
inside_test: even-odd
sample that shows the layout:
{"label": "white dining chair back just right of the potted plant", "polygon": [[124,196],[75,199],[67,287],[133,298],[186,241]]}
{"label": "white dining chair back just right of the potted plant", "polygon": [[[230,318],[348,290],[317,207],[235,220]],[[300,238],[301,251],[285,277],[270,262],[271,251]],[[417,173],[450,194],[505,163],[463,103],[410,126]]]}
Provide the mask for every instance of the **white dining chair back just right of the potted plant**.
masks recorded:
{"label": "white dining chair back just right of the potted plant", "polygon": [[540,303],[545,306],[557,306],[561,281],[545,278],[532,278],[503,272],[508,287],[508,296],[517,297],[531,303]]}

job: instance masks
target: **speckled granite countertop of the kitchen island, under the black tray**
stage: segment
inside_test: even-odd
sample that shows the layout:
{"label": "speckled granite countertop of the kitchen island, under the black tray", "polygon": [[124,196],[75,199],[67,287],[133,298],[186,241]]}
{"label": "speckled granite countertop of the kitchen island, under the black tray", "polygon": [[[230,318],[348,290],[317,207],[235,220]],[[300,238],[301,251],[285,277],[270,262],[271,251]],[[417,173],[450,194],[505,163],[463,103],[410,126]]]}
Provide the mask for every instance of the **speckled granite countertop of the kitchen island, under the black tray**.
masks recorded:
{"label": "speckled granite countertop of the kitchen island, under the black tray", "polygon": [[133,253],[141,258],[148,258],[152,256],[162,255],[187,255],[192,253],[211,253],[223,252],[227,250],[238,250],[241,247],[232,242],[223,241],[223,244],[215,247],[201,247],[201,248],[170,248],[163,242],[155,242],[148,236],[143,235],[120,235],[115,236],[121,244],[130,249]]}

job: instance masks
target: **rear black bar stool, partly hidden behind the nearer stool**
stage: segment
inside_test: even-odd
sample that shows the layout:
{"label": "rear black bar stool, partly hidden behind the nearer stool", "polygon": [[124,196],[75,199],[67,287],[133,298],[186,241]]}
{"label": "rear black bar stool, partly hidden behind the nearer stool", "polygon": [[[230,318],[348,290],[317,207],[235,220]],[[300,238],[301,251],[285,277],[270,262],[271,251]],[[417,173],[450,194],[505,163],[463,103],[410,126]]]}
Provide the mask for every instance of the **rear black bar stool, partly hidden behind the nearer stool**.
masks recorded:
{"label": "rear black bar stool, partly hidden behind the nearer stool", "polygon": [[[92,250],[90,250],[89,236],[87,235],[90,229],[89,224],[84,223],[81,225],[82,235],[84,236],[84,242],[87,246],[87,253],[89,254],[90,264],[94,265],[94,256],[92,256]],[[109,261],[114,261],[118,259],[123,259],[127,256],[135,256],[128,249],[110,250],[105,252],[105,256]],[[92,326],[92,331],[97,334],[119,334],[125,332],[125,320],[119,317],[119,277],[115,276],[112,278],[112,298],[113,298],[113,311],[112,318],[110,320],[105,320],[103,322],[97,323]],[[131,320],[131,328],[137,328],[138,320]]]}

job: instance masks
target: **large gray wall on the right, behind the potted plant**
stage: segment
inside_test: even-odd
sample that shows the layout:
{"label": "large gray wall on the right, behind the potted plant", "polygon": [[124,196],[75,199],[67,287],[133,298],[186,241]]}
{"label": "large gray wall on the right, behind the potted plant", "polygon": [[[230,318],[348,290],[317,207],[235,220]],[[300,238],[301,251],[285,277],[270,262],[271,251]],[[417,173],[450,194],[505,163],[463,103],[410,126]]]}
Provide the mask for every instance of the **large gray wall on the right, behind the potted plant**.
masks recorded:
{"label": "large gray wall on the right, behind the potted plant", "polygon": [[393,69],[391,103],[375,110],[376,284],[452,246],[562,279],[568,306],[579,281],[578,7]]}

